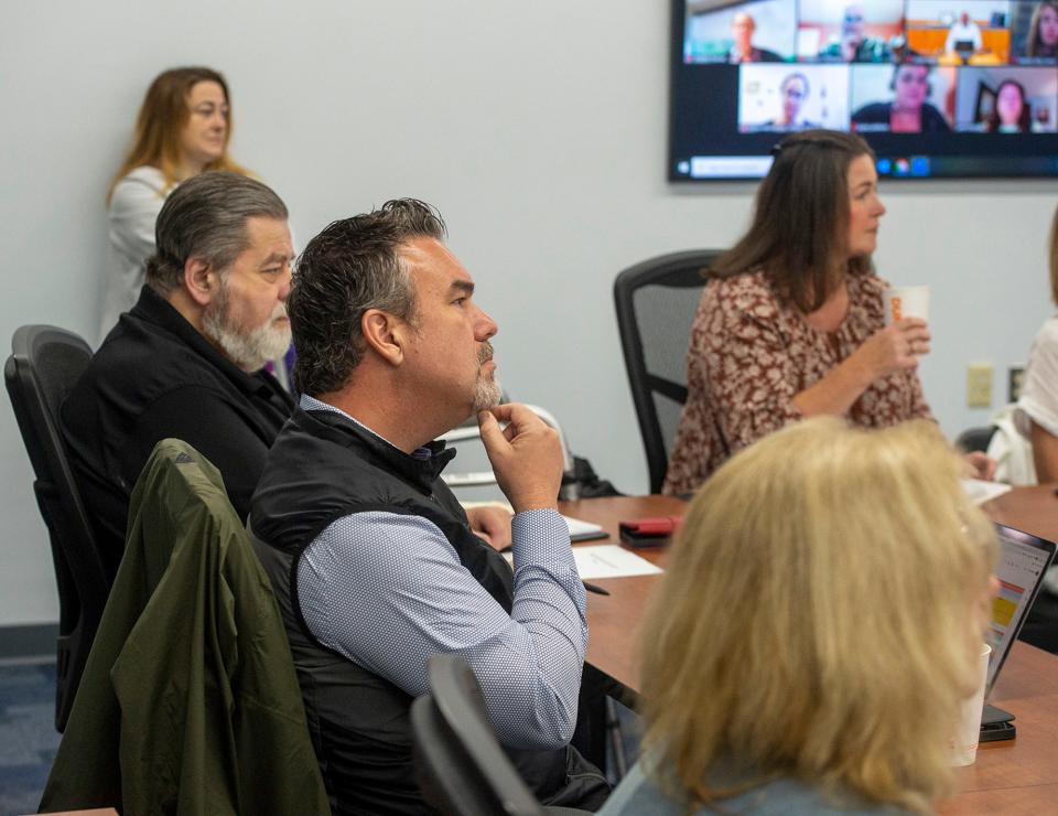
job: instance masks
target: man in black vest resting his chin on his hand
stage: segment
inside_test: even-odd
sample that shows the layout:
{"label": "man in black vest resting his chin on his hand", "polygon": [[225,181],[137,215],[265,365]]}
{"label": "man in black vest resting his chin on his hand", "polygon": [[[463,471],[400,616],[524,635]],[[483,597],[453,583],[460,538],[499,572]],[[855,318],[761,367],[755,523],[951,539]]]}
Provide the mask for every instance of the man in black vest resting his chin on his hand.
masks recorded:
{"label": "man in black vest resting his chin on his hand", "polygon": [[[498,405],[498,328],[445,234],[400,198],[309,241],[290,296],[301,402],[253,494],[255,549],[335,816],[434,813],[409,710],[439,653],[466,661],[537,797],[594,810],[609,788],[570,745],[587,622],[557,509],[562,443]],[[435,440],[472,414],[516,511],[517,572],[441,479],[454,451]]]}

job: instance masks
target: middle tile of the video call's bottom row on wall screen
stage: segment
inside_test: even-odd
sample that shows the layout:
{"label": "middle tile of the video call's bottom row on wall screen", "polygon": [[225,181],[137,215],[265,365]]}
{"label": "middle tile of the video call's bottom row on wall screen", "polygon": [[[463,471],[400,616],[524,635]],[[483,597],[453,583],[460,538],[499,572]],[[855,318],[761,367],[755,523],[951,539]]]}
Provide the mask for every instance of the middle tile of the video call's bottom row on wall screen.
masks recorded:
{"label": "middle tile of the video call's bottom row on wall screen", "polygon": [[852,130],[857,132],[947,133],[947,109],[954,68],[922,63],[852,68]]}

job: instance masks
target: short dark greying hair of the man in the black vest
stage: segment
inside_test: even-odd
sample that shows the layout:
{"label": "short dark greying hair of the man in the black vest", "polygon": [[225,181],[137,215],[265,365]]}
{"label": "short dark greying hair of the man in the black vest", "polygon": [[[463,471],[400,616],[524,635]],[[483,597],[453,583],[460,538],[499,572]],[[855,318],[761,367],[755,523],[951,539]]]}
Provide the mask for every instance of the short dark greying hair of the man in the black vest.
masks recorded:
{"label": "short dark greying hair of the man in the black vest", "polygon": [[341,389],[364,358],[360,321],[380,309],[415,322],[411,277],[400,247],[415,238],[444,240],[441,214],[414,198],[336,221],[309,241],[287,301],[298,357],[294,386],[316,396]]}

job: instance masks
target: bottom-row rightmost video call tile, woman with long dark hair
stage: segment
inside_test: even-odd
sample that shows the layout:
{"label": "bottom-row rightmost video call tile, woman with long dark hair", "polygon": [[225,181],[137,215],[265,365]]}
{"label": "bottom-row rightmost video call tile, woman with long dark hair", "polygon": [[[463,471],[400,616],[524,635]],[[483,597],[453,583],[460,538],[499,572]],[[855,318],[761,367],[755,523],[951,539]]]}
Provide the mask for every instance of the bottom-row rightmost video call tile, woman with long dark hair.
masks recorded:
{"label": "bottom-row rightmost video call tile, woman with long dark hair", "polygon": [[1058,115],[1054,68],[961,68],[956,129],[984,133],[1052,133]]}

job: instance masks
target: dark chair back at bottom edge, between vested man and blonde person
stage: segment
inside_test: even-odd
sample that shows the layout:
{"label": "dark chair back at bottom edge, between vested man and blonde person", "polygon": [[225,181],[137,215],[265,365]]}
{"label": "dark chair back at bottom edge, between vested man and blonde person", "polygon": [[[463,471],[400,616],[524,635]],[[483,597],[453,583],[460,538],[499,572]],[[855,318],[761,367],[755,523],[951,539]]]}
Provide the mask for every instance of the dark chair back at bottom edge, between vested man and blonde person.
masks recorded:
{"label": "dark chair back at bottom edge, between vested man and blonde person", "polygon": [[430,694],[411,705],[419,785],[445,816],[586,814],[544,807],[518,775],[493,733],[485,698],[466,661],[430,658]]}

